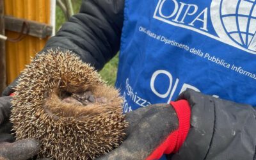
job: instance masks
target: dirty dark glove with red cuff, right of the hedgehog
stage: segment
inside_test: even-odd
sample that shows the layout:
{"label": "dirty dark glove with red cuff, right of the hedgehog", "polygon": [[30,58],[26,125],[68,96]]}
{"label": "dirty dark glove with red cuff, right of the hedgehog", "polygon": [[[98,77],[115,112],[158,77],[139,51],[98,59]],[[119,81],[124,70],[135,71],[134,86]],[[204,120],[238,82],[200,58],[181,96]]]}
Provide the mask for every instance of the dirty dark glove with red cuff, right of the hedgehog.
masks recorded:
{"label": "dirty dark glove with red cuff, right of the hedgehog", "polygon": [[159,159],[177,152],[189,131],[190,107],[186,100],[171,104],[154,104],[127,113],[129,127],[124,142],[98,159]]}

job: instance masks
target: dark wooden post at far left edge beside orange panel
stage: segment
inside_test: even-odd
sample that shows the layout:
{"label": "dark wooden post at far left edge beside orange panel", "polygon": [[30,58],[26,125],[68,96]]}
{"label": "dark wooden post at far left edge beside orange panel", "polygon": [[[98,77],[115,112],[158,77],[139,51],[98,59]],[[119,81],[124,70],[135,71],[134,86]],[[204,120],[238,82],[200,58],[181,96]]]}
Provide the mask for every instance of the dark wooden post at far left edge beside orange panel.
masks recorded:
{"label": "dark wooden post at far left edge beside orange panel", "polygon": [[[4,0],[0,0],[0,35],[4,35]],[[5,40],[0,40],[0,95],[6,87]]]}

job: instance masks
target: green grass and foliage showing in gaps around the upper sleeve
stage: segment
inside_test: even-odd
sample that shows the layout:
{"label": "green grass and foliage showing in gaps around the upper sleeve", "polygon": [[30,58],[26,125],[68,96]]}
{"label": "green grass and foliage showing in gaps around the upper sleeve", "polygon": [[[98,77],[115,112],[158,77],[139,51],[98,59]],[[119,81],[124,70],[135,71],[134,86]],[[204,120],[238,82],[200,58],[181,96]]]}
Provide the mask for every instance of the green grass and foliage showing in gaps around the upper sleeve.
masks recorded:
{"label": "green grass and foliage showing in gaps around the upper sleeve", "polygon": [[[79,12],[82,0],[72,0],[74,13]],[[56,31],[60,29],[61,25],[65,22],[65,16],[59,6],[56,6]],[[107,81],[108,84],[114,85],[116,81],[116,72],[118,66],[118,55],[112,58],[105,67],[100,71],[100,76]]]}

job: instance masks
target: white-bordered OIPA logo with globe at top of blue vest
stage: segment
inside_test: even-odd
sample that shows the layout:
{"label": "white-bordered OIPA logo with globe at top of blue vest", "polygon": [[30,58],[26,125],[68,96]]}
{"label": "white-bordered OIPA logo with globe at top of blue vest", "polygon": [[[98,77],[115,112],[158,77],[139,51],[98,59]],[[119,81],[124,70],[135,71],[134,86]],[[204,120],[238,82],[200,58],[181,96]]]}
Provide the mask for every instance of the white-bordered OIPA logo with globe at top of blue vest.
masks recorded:
{"label": "white-bordered OIPA logo with globe at top of blue vest", "polygon": [[256,0],[212,0],[208,7],[159,0],[153,17],[256,54]]}

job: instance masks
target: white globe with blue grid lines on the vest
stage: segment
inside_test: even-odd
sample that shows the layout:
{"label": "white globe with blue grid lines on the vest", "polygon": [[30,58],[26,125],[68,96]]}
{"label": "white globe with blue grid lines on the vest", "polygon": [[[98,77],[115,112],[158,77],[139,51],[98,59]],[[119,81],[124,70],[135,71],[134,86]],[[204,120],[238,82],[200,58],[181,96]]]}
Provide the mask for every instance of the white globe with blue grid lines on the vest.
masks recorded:
{"label": "white globe with blue grid lines on the vest", "polygon": [[256,0],[220,0],[220,21],[227,36],[256,51]]}

